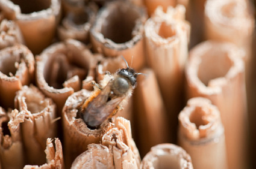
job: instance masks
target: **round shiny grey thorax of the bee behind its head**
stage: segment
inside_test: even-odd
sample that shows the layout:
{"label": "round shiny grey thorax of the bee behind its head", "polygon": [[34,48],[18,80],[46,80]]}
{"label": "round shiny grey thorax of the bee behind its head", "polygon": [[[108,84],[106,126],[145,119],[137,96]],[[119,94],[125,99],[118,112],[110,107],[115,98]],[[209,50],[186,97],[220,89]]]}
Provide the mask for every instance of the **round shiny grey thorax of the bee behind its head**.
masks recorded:
{"label": "round shiny grey thorax of the bee behind its head", "polygon": [[123,95],[129,89],[129,83],[122,77],[117,77],[113,81],[112,90],[116,95]]}

